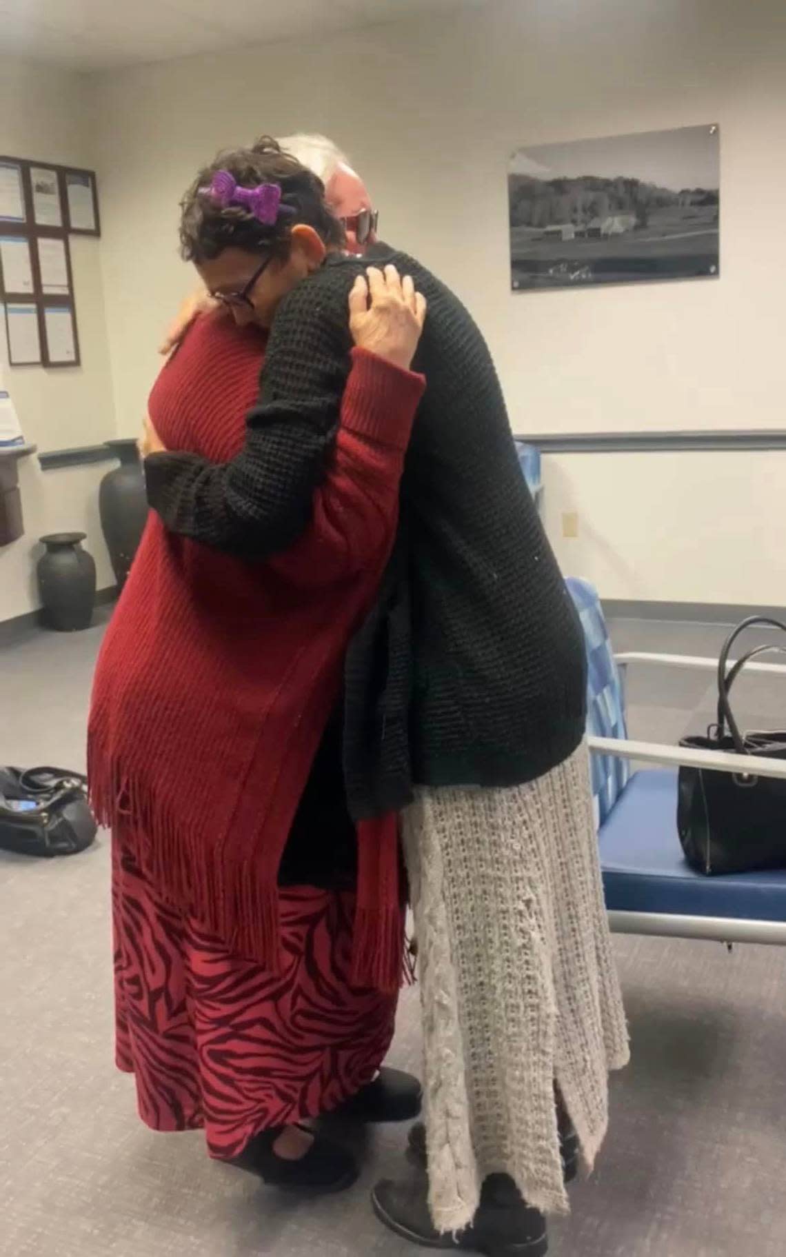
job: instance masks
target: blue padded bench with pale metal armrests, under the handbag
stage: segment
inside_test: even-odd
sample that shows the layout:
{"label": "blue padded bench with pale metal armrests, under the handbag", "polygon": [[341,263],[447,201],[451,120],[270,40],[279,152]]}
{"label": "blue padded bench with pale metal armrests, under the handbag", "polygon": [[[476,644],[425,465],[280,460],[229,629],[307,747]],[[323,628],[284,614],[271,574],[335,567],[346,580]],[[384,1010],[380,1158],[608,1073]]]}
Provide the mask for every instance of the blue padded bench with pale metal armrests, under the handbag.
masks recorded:
{"label": "blue padded bench with pale metal armrests, under the handbag", "polygon": [[[586,581],[568,579],[589,659],[587,734],[594,753],[592,792],[599,818],[604,890],[611,928],[626,934],[786,945],[786,871],[704,877],[683,859],[677,832],[677,769],[680,763],[724,772],[755,769],[786,777],[786,762],[716,750],[631,742],[625,727],[624,674],[633,664],[717,671],[717,661],[693,656],[614,655],[600,598]],[[786,676],[778,664],[752,662],[751,671]],[[786,698],[786,693],[785,693]],[[640,760],[630,779],[611,762]]]}

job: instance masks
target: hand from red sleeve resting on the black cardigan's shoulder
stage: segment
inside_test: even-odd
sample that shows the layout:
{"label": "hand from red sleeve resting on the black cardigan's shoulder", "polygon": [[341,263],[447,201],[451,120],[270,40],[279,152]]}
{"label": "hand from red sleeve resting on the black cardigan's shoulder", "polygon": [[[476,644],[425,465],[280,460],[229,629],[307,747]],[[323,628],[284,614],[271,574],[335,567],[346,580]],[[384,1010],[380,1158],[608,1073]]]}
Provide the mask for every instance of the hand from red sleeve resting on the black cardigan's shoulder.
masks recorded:
{"label": "hand from red sleeve resting on the black cardigan's shoulder", "polygon": [[350,293],[350,332],[362,349],[402,367],[412,365],[426,317],[426,299],[415,292],[410,275],[399,277],[395,266],[367,268],[368,279],[358,275]]}

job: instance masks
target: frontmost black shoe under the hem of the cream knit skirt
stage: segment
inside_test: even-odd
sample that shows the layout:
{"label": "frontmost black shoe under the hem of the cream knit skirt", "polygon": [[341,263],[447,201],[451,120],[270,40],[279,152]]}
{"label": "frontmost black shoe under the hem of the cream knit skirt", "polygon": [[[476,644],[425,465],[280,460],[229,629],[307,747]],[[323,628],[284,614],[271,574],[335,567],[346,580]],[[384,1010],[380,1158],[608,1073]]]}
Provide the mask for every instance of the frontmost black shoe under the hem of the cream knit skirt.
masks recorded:
{"label": "frontmost black shoe under the hem of the cream knit skirt", "polygon": [[380,1222],[421,1248],[478,1252],[484,1257],[546,1257],[548,1252],[543,1214],[531,1209],[502,1174],[485,1180],[472,1226],[457,1236],[440,1236],[434,1228],[423,1175],[409,1184],[377,1183],[371,1204]]}

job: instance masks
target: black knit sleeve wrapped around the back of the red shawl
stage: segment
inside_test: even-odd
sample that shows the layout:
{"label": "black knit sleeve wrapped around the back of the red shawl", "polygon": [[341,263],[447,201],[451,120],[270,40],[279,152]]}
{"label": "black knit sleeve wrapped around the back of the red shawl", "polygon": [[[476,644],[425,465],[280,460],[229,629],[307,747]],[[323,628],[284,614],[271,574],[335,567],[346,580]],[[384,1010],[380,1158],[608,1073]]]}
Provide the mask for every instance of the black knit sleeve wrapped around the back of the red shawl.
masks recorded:
{"label": "black knit sleeve wrapped around the back of the red shawl", "polygon": [[350,373],[347,295],[355,275],[303,280],[280,303],[262,393],[245,445],[230,463],[194,454],[146,459],[147,498],[182,537],[245,558],[289,547],[312,517]]}

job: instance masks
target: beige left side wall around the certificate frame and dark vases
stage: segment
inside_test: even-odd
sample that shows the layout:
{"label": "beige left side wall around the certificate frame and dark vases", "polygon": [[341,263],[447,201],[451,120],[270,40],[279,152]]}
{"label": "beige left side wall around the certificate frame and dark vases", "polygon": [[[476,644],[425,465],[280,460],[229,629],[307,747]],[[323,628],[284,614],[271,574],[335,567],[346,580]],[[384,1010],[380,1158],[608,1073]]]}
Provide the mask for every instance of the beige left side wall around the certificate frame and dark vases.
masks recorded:
{"label": "beige left side wall around the certificate frame and dark vases", "polygon": [[[79,75],[0,58],[0,153],[92,166],[91,98],[91,85]],[[94,445],[114,435],[99,241],[72,236],[70,254],[82,366],[4,366],[24,434],[39,450]],[[3,352],[5,328],[0,332]],[[112,583],[97,503],[106,469],[43,473],[35,458],[20,463],[25,535],[0,548],[0,621],[38,606],[34,569],[43,533],[86,532],[99,588]]]}

